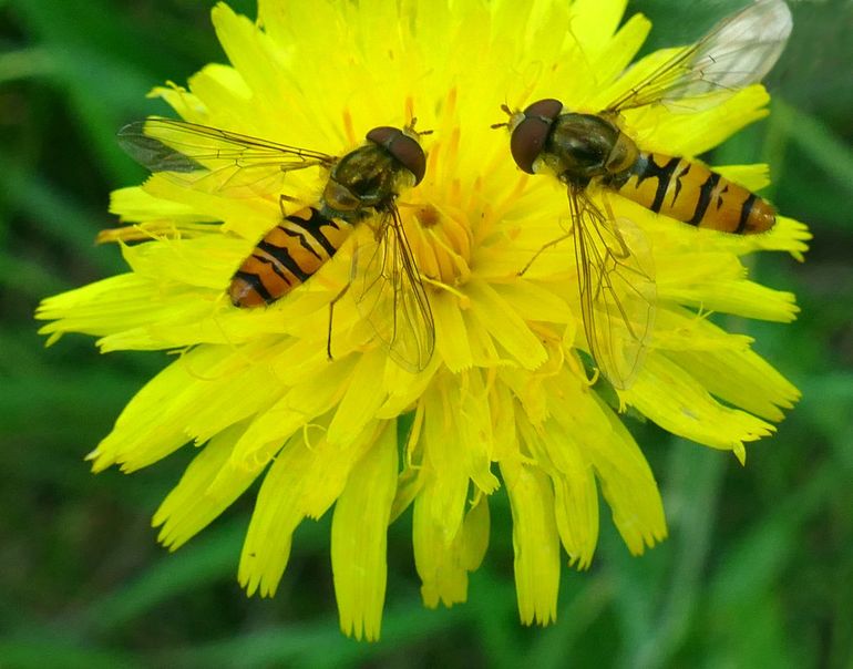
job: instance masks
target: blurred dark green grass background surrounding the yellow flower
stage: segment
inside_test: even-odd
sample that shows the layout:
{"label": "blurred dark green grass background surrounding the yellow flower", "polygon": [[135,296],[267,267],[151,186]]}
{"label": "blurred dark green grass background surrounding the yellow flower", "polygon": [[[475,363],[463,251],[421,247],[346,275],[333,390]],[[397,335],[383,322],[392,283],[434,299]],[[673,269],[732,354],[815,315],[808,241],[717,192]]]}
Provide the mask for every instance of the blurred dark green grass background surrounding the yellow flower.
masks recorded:
{"label": "blurred dark green grass background surrounding the yellow flower", "polygon": [[[232,4],[254,16],[251,0]],[[647,0],[649,47],[698,38],[737,3]],[[188,450],[125,476],[83,456],[165,354],[50,349],[32,312],[122,270],[95,247],[112,188],[143,171],[115,131],[163,113],[145,93],[224,61],[209,2],[0,0],[0,667],[849,667],[853,645],[853,2],[791,2],[794,32],[768,80],[772,116],[718,150],[768,161],[768,191],[814,233],[805,265],[764,255],[756,277],[793,290],[792,326],[729,320],[803,392],[773,439],[733,456],[635,421],[670,538],[631,558],[603,508],[589,572],[564,570],[558,622],[518,624],[505,496],[467,604],[424,609],[410,514],[391,527],[383,637],[340,635],[328,518],[298,531],[278,596],[236,583],[253,495],[175,555],[150,517]],[[330,47],[331,48],[331,47]],[[186,452],[185,452],[186,451]]]}

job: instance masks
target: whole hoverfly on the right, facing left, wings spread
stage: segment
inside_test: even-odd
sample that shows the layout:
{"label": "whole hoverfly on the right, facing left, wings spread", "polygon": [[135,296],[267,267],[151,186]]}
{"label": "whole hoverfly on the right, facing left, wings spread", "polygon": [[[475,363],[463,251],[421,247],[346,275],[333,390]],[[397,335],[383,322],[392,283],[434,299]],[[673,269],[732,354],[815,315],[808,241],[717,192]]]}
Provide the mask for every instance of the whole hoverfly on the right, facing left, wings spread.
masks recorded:
{"label": "whole hoverfly on the right, facing left, wings spread", "polygon": [[[650,253],[639,228],[617,220],[615,193],[682,223],[736,235],[769,230],[773,206],[701,163],[639,148],[623,132],[620,112],[656,103],[724,96],[760,81],[791,32],[782,0],[758,0],[723,19],[696,44],[679,50],[647,79],[596,114],[564,112],[539,100],[510,114],[511,152],[528,173],[551,172],[566,185],[571,230],[539,249],[574,237],[580,311],[589,352],[618,389],[640,368],[655,317]],[[717,97],[708,97],[711,103]],[[677,111],[677,110],[676,110]],[[603,210],[590,198],[602,195]]]}

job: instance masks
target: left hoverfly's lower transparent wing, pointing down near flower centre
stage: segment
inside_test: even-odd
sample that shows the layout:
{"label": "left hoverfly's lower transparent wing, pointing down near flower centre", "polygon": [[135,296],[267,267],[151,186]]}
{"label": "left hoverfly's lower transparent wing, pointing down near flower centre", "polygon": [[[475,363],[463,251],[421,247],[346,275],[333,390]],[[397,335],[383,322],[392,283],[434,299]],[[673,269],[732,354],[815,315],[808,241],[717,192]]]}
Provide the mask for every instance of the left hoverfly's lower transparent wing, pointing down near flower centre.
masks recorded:
{"label": "left hoverfly's lower transparent wing, pointing down near flower centre", "polygon": [[419,372],[435,348],[430,302],[395,206],[381,215],[378,226],[376,246],[358,251],[356,302],[391,359]]}

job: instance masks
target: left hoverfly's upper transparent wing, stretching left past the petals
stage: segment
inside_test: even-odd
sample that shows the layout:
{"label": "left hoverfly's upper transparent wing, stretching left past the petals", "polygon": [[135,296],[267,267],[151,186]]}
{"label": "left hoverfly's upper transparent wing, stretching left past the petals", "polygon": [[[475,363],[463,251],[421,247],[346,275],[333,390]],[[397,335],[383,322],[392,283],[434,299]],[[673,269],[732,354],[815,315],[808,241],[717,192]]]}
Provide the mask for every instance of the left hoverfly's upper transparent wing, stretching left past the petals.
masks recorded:
{"label": "left hoverfly's upper transparent wing, stretching left past the petals", "polygon": [[119,144],[152,173],[230,197],[280,191],[287,172],[336,161],[325,153],[169,119],[125,125]]}

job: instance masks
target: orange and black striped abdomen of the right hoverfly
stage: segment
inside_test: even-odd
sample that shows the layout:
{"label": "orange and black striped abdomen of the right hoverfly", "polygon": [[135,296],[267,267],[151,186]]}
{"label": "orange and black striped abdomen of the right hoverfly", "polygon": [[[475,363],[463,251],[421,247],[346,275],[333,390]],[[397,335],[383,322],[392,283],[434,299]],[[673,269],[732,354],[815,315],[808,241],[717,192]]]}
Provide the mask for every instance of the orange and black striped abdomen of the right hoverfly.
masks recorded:
{"label": "orange and black striped abdomen of the right hoverfly", "polygon": [[769,202],[686,158],[640,152],[634,165],[604,183],[652,212],[701,228],[750,235],[775,224]]}

